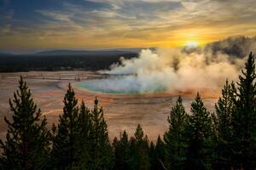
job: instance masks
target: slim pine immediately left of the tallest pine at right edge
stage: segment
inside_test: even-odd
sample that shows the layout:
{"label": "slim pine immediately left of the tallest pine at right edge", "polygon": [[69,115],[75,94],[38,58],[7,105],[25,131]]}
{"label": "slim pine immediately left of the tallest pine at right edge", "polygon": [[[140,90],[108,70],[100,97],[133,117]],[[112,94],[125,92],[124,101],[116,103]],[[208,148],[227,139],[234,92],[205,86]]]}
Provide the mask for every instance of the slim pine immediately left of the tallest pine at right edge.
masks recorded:
{"label": "slim pine immediately left of the tallest pine at right edge", "polygon": [[232,114],[235,110],[236,88],[234,82],[226,81],[222,89],[222,97],[215,105],[215,115],[213,115],[216,134],[216,169],[229,169],[232,165]]}

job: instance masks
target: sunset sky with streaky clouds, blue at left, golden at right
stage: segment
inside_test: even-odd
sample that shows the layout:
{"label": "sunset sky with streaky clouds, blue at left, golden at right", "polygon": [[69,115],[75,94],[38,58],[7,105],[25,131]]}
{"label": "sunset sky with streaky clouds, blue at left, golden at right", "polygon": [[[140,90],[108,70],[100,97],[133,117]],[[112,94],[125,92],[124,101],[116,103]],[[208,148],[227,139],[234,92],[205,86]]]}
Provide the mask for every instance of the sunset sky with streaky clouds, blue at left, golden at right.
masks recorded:
{"label": "sunset sky with streaky clouds, blue at left, golden at right", "polygon": [[255,23],[256,0],[0,0],[0,51],[203,45]]}

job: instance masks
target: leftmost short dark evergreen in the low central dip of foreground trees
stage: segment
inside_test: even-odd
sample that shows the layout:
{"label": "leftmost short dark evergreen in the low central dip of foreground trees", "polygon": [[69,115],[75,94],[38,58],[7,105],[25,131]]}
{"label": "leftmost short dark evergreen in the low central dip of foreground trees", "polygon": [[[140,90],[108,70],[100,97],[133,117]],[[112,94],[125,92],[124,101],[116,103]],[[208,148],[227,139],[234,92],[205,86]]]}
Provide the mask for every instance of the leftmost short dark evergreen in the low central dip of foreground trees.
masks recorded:
{"label": "leftmost short dark evergreen in the low central dip of foreground trees", "polygon": [[116,170],[130,170],[131,158],[128,134],[124,133],[120,136],[120,140],[113,140],[113,152],[114,152],[114,168]]}

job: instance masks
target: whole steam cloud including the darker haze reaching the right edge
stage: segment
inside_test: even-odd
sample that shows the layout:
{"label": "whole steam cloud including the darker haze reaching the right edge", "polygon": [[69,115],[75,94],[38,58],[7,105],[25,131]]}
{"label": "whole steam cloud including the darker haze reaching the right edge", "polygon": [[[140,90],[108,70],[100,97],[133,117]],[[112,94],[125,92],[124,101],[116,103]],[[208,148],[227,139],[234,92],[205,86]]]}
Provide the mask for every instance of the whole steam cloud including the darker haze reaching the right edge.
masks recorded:
{"label": "whole steam cloud including the darker haze reaching the right edge", "polygon": [[255,37],[230,37],[205,48],[143,49],[137,58],[121,58],[120,65],[104,71],[119,77],[94,86],[107,92],[139,94],[219,89],[227,78],[236,81],[255,44]]}

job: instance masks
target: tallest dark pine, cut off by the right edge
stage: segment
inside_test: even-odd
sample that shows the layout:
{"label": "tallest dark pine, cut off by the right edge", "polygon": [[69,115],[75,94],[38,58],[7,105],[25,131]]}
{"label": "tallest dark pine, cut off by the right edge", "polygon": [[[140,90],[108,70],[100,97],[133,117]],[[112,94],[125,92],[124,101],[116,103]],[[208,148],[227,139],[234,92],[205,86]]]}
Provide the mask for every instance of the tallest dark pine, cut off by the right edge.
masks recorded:
{"label": "tallest dark pine, cut off by the right edge", "polygon": [[256,159],[256,75],[252,53],[241,74],[237,83],[236,110],[232,114],[233,160],[236,161],[236,167],[253,169]]}

